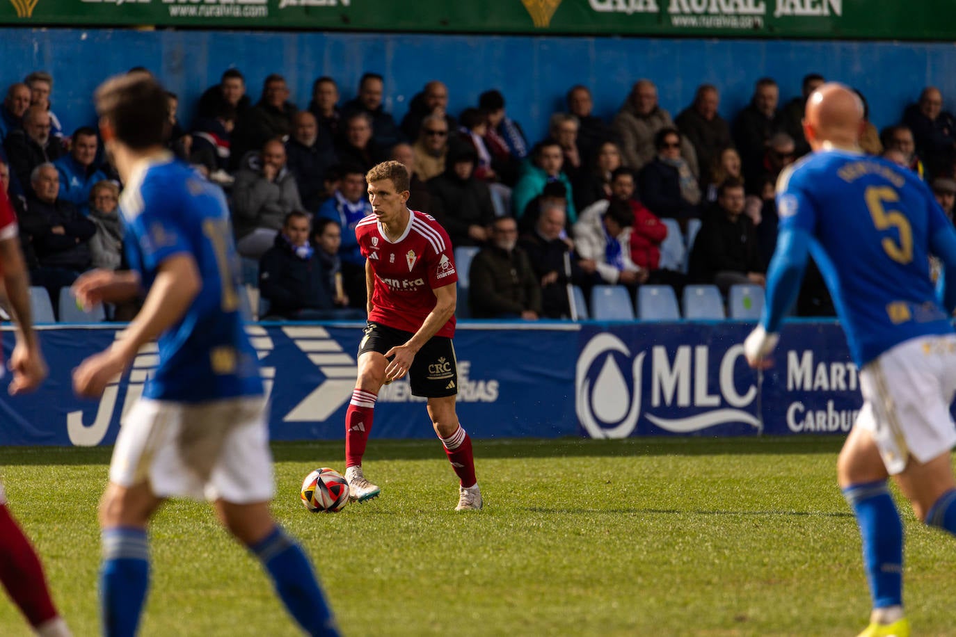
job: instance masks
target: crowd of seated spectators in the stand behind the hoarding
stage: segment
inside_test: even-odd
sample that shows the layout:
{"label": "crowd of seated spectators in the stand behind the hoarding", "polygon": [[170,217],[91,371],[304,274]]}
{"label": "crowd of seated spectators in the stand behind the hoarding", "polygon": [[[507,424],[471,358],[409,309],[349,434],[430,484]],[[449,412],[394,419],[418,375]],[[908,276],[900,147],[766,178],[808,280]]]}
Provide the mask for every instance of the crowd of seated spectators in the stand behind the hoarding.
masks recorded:
{"label": "crowd of seated spectators in the stand behind the hoarding", "polygon": [[[496,89],[452,114],[448,87],[428,81],[399,123],[385,109],[380,74],[363,74],[344,103],[337,82],[319,77],[299,109],[281,74],[269,75],[253,101],[243,74],[228,69],[194,113],[181,114],[178,97],[167,95],[168,146],[224,188],[238,251],[260,263],[272,316],[360,314],[355,226],[371,211],[364,173],[397,159],[411,175],[410,207],[438,219],[455,247],[480,250],[459,272],[470,279],[473,316],[558,318],[570,314],[570,285],[632,293],[647,283],[763,285],[776,236],[774,184],[810,150],[801,119],[823,81],[807,74],[800,96],[781,105],[776,82],[761,78],[730,121],[712,84],[671,118],[654,83],[641,79],[610,120],[593,113],[590,89],[577,84],[547,137],[530,139]],[[94,128],[62,131],[53,98],[54,78],[44,72],[8,87],[0,180],[19,215],[32,283],[55,299],[83,270],[120,268],[124,259],[116,172]],[[933,87],[901,116],[880,132],[867,122],[860,145],[918,173],[951,216],[956,119]],[[683,241],[697,220],[684,266],[662,263],[668,234],[676,228]],[[832,311],[813,286],[799,311]]]}

